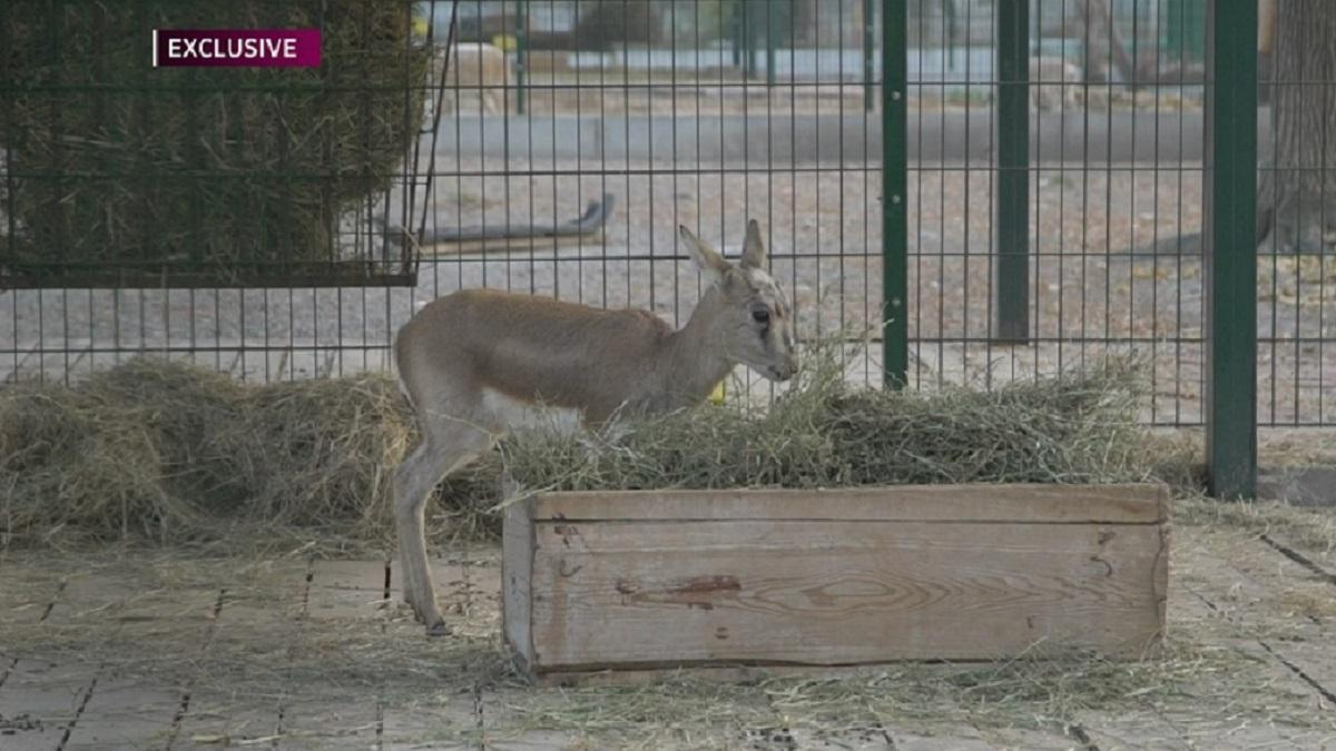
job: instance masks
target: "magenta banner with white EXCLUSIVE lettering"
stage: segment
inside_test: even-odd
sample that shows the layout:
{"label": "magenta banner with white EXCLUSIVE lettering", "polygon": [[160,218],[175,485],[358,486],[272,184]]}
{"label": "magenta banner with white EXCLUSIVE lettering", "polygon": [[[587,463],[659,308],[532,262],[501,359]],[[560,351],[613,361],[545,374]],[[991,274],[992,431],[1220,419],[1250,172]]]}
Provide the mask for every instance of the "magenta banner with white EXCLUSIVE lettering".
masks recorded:
{"label": "magenta banner with white EXCLUSIVE lettering", "polygon": [[317,68],[321,29],[154,29],[154,67]]}

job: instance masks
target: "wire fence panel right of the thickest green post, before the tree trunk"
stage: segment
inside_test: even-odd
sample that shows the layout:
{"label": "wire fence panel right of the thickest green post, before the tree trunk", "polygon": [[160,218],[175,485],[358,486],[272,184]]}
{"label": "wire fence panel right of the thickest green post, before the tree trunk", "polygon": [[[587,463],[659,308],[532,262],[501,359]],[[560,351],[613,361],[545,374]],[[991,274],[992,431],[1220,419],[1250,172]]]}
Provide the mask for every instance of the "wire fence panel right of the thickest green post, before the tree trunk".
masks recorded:
{"label": "wire fence panel right of the thickest green post, before the tree trunk", "polygon": [[[1336,8],[1263,3],[1259,416],[1336,424]],[[1316,115],[1316,116],[1315,116]]]}

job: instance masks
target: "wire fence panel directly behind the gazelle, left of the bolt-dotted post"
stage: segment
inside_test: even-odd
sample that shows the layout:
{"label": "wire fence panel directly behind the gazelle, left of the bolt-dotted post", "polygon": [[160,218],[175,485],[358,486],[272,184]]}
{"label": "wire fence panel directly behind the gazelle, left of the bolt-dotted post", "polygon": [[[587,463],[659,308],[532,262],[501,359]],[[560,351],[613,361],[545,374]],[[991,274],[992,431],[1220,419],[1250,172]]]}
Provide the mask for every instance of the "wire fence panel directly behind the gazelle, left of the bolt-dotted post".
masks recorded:
{"label": "wire fence panel directly behind the gazelle, left of the bolt-dotted post", "polygon": [[[480,23],[490,27],[482,36],[524,32],[508,73],[516,86],[493,99],[498,111],[484,103],[442,123],[448,148],[436,164],[437,234],[498,226],[512,237],[429,246],[426,298],[493,286],[645,307],[683,325],[701,287],[677,226],[736,257],[755,218],[802,339],[876,323],[872,4],[517,8],[514,19]],[[541,35],[540,24],[549,24]],[[603,200],[612,211],[601,231],[537,237],[537,226]],[[875,362],[863,357],[851,373],[876,380]]]}

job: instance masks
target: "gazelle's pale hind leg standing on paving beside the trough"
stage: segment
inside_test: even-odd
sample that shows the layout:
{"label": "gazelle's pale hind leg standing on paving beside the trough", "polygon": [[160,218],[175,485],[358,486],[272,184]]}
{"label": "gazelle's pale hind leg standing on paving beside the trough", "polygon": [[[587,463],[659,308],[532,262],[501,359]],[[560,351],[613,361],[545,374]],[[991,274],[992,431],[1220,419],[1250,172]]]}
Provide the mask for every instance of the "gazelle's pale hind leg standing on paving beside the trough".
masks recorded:
{"label": "gazelle's pale hind leg standing on paving beside the trough", "polygon": [[394,518],[403,564],[403,599],[426,624],[428,636],[448,632],[426,557],[425,512],[432,490],[446,474],[492,448],[484,428],[449,417],[420,416],[422,442],[394,472]]}

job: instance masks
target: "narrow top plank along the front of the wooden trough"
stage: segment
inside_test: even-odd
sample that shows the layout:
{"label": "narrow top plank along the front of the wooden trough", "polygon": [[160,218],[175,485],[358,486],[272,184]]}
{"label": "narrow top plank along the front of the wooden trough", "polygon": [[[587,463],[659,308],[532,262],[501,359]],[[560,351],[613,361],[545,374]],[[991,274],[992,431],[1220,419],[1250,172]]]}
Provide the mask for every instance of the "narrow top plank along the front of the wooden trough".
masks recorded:
{"label": "narrow top plank along the front of the wooden trough", "polygon": [[1160,524],[1169,489],[1128,485],[900,485],[820,490],[540,493],[534,520],[847,520]]}

